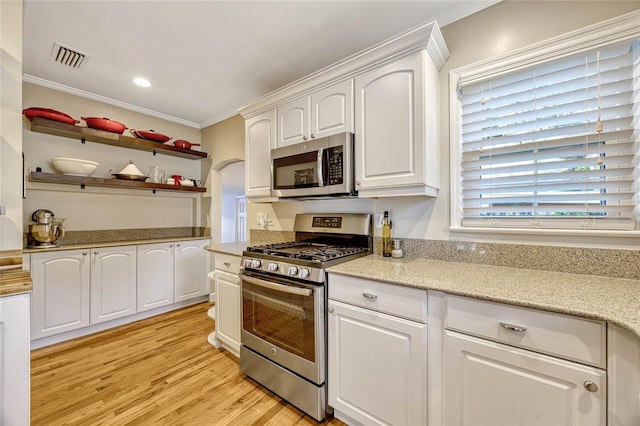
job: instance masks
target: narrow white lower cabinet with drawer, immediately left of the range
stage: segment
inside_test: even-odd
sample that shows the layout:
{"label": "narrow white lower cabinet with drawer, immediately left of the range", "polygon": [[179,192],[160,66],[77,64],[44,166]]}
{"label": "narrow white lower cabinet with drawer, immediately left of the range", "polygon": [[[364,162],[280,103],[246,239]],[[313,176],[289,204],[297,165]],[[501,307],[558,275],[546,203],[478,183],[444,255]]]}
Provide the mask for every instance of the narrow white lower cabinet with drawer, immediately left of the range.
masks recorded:
{"label": "narrow white lower cabinet with drawer, immediately left of the range", "polygon": [[216,331],[214,345],[240,354],[241,300],[240,257],[215,254]]}

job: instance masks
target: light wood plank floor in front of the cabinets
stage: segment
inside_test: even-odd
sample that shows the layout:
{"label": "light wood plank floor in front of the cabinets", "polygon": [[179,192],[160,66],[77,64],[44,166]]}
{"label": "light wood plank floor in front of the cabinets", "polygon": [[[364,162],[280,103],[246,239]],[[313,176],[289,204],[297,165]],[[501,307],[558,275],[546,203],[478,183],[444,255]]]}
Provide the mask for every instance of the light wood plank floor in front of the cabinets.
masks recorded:
{"label": "light wood plank floor in front of the cabinets", "polygon": [[207,343],[209,307],[32,351],[31,424],[318,425]]}

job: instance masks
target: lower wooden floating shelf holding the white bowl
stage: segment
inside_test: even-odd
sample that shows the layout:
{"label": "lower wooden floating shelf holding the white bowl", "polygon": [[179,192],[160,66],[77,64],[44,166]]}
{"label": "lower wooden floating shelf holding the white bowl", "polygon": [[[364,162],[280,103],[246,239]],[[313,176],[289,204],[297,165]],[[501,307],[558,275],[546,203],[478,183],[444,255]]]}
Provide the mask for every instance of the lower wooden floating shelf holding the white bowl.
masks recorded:
{"label": "lower wooden floating shelf holding the white bowl", "polygon": [[167,185],[164,183],[147,183],[136,180],[116,178],[92,178],[84,176],[59,175],[56,173],[31,172],[31,182],[60,183],[65,185],[103,186],[121,189],[146,189],[157,191],[206,192],[207,188],[200,186]]}

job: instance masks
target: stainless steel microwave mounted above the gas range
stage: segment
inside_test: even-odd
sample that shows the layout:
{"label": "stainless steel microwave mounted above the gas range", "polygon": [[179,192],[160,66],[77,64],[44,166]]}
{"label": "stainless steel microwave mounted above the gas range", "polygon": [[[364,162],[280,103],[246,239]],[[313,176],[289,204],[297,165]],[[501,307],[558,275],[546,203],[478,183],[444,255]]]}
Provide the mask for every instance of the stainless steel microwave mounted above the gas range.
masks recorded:
{"label": "stainless steel microwave mounted above the gas range", "polygon": [[271,196],[355,195],[353,133],[271,150]]}

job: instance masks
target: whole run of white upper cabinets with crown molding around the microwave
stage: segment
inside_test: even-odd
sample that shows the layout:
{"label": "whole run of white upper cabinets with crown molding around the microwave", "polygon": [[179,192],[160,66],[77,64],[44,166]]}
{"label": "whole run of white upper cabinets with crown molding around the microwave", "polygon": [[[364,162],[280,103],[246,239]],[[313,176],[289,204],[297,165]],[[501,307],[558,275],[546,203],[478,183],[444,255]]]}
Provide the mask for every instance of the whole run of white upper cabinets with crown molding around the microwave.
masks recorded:
{"label": "whole run of white upper cabinets with crown molding around the microwave", "polygon": [[[268,131],[274,131],[272,148],[354,132],[360,197],[435,197],[440,186],[439,70],[448,57],[433,21],[241,108],[247,126],[247,196],[267,196],[270,158],[259,152],[268,145]],[[274,108],[275,121],[265,118]],[[255,128],[265,119],[269,129]],[[255,144],[260,148],[249,152]]]}

